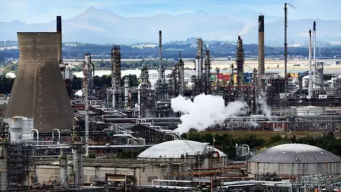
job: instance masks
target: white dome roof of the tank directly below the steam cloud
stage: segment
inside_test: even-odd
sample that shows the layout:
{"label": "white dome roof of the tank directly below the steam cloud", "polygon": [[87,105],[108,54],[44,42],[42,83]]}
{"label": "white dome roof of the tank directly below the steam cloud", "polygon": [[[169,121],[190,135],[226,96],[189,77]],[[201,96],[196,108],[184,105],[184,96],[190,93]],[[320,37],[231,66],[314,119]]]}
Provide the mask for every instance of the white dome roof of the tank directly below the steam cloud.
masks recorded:
{"label": "white dome roof of the tank directly below the steam cloud", "polygon": [[[170,142],[163,142],[161,144],[156,144],[151,146],[150,148],[143,151],[138,158],[180,158],[181,155],[186,156],[186,154],[193,156],[196,154],[203,154],[207,148],[212,148],[212,146],[200,143],[193,142],[190,140],[175,140]],[[212,149],[211,149],[212,150]],[[218,149],[214,149],[217,151],[220,156],[227,156],[222,151]]]}

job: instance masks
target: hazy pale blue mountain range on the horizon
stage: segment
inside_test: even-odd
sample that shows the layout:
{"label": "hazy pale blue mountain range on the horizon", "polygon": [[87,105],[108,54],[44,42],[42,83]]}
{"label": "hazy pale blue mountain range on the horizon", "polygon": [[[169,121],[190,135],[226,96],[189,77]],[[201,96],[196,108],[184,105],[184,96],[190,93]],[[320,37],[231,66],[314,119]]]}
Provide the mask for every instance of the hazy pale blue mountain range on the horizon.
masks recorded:
{"label": "hazy pale blue mountain range on the horizon", "polygon": [[[282,11],[282,10],[278,10]],[[231,16],[215,16],[205,11],[192,14],[168,14],[150,17],[124,18],[108,9],[91,7],[82,14],[63,20],[63,41],[82,43],[158,42],[158,31],[163,31],[163,42],[184,41],[188,37],[202,37],[205,41],[237,41],[258,43],[258,16],[254,11],[240,11]],[[277,16],[265,16],[266,46],[283,46],[284,21]],[[288,21],[288,44],[306,43],[313,19]],[[341,42],[341,21],[315,20],[317,40]],[[0,40],[16,41],[17,31],[55,31],[55,21],[27,24],[21,21],[1,22]]]}

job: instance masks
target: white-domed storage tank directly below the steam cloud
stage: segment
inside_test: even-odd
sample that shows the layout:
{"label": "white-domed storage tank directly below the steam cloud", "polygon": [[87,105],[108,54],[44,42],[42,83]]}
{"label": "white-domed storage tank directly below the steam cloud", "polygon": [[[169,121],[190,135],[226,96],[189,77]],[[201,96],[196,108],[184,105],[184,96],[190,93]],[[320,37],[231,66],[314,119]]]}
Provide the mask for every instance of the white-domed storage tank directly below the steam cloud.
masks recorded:
{"label": "white-domed storage tank directly below the steam cloud", "polygon": [[190,140],[175,140],[156,144],[141,152],[138,159],[148,161],[182,161],[196,164],[197,168],[227,165],[227,155],[207,143]]}

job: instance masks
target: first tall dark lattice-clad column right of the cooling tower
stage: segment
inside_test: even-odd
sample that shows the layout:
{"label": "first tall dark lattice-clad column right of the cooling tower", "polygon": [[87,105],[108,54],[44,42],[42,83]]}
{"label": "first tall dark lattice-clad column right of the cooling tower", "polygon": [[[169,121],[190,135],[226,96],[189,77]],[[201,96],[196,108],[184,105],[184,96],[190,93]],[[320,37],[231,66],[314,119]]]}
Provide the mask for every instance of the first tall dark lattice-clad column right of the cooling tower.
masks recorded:
{"label": "first tall dark lattice-clad column right of the cooling tower", "polygon": [[115,109],[118,89],[121,86],[121,48],[112,48],[112,107]]}

